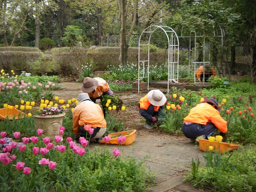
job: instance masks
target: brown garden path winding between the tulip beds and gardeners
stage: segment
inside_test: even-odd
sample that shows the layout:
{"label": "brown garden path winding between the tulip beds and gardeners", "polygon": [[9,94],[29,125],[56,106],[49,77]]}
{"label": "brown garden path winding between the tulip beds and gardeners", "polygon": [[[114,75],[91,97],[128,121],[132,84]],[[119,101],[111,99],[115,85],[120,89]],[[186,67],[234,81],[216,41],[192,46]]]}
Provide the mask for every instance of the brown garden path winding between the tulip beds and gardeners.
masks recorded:
{"label": "brown garden path winding between the tulip beds and gardeners", "polygon": [[[78,82],[65,82],[62,90],[53,91],[54,96],[61,99],[77,98],[80,93]],[[162,88],[153,88],[166,91]],[[122,92],[115,93],[122,99],[126,106],[125,111],[118,112],[118,118],[124,118],[124,127],[129,130],[136,129],[136,140],[133,144],[122,146],[123,155],[130,155],[139,160],[144,160],[156,177],[156,185],[147,192],[198,192],[189,184],[183,184],[185,173],[190,170],[189,162],[199,158],[203,162],[203,154],[199,147],[189,143],[183,135],[167,134],[160,129],[145,129],[143,118],[138,112],[138,101],[145,93]],[[102,146],[103,144],[91,144],[90,148]],[[114,149],[115,144],[108,144],[108,148]],[[147,158],[145,158],[147,157]],[[209,190],[207,190],[209,191]]]}

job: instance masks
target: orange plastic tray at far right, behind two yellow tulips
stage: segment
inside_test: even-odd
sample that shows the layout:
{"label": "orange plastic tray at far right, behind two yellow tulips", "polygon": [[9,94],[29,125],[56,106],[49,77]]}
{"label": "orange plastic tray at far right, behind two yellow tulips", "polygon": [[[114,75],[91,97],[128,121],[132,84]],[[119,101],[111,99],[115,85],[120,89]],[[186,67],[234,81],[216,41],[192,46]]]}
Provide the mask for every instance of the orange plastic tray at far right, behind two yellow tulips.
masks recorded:
{"label": "orange plastic tray at far right, behind two yellow tulips", "polygon": [[230,151],[240,146],[238,144],[227,144],[224,142],[217,142],[217,141],[213,141],[212,143],[210,143],[210,141],[207,139],[198,139],[198,140],[199,140],[200,150],[207,151],[209,150],[209,146],[212,146],[213,147],[212,152],[218,152],[218,153],[222,153],[223,151]]}

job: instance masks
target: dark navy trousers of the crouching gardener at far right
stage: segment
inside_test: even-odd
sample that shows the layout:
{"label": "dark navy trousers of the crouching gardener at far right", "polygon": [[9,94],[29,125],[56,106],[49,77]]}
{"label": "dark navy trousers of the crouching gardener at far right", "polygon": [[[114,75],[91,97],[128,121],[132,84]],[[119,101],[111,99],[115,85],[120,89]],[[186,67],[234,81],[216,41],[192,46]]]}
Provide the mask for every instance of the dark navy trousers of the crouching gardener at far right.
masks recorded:
{"label": "dark navy trousers of the crouching gardener at far right", "polygon": [[205,135],[205,139],[210,137],[217,131],[217,127],[213,123],[207,123],[206,125],[201,125],[197,123],[191,123],[186,125],[183,123],[182,132],[183,134],[190,139],[195,139],[201,135]]}

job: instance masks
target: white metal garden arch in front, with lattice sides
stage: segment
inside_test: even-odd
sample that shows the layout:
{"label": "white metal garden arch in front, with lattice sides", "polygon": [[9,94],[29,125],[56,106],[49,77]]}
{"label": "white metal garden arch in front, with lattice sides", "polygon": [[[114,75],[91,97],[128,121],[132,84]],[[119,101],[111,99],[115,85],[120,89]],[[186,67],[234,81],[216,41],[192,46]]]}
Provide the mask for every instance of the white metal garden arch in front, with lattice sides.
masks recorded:
{"label": "white metal garden arch in front, with lattice sides", "polygon": [[[140,93],[140,80],[147,78],[147,91],[149,91],[149,67],[150,67],[150,38],[155,30],[161,29],[168,39],[168,82],[167,92],[169,93],[169,82],[178,83],[179,81],[179,38],[176,32],[168,26],[149,26],[141,33],[139,38],[138,52],[138,93]],[[141,44],[141,37],[145,34],[150,34],[148,42]],[[147,58],[141,59],[140,48],[147,46]],[[140,65],[143,66],[142,72]]]}

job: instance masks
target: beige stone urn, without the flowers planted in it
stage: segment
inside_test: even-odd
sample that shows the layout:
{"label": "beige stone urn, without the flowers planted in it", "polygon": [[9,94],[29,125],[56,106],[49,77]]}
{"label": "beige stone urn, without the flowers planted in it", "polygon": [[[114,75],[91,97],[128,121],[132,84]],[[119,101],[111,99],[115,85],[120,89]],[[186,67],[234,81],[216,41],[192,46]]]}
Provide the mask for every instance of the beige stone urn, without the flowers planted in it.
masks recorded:
{"label": "beige stone urn, without the flowers planted in it", "polygon": [[54,140],[54,137],[59,134],[59,128],[62,126],[62,120],[65,113],[59,115],[33,115],[35,118],[36,129],[42,129],[45,136]]}

